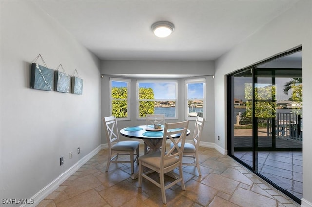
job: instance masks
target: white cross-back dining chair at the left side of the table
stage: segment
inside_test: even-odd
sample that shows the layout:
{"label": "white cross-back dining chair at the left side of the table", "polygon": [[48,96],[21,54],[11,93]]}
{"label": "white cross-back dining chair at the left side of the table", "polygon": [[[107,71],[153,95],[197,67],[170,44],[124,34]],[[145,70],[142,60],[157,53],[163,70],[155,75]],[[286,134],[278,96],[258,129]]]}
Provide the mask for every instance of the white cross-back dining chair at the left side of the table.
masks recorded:
{"label": "white cross-back dining chair at the left side of the table", "polygon": [[[106,165],[106,172],[108,171],[110,163],[130,163],[131,174],[133,174],[134,162],[140,155],[139,151],[140,142],[120,141],[117,120],[114,116],[103,117],[103,121],[108,144],[108,159]],[[137,153],[135,154],[136,151]],[[112,155],[114,155],[114,157],[112,157]],[[119,155],[130,155],[130,161],[118,160]],[[134,155],[136,155],[136,157],[134,157]]]}

